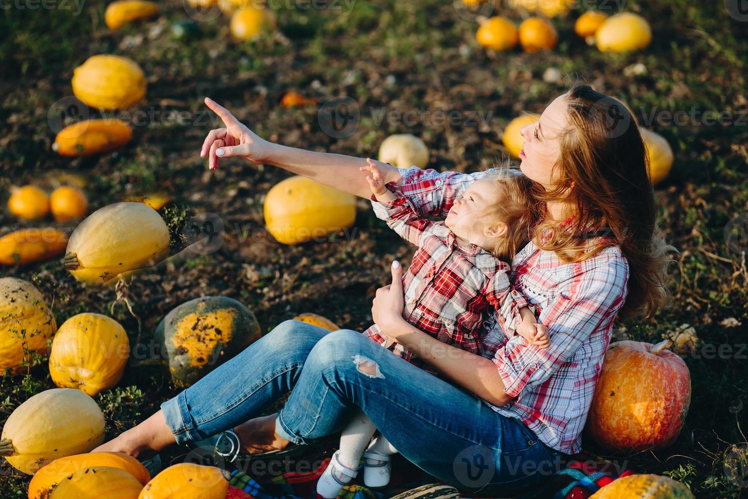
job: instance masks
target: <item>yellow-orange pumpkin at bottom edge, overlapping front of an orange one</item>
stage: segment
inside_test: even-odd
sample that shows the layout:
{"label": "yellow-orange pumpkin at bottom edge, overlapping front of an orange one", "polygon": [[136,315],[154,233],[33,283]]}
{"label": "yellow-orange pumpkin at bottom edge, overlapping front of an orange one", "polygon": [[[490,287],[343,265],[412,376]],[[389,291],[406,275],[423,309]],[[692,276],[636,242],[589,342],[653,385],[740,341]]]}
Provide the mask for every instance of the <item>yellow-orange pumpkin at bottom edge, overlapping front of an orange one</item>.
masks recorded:
{"label": "yellow-orange pumpkin at bottom edge, overlapping front of an orange one", "polygon": [[83,468],[62,479],[49,499],[138,499],[143,484],[127,471],[108,466]]}

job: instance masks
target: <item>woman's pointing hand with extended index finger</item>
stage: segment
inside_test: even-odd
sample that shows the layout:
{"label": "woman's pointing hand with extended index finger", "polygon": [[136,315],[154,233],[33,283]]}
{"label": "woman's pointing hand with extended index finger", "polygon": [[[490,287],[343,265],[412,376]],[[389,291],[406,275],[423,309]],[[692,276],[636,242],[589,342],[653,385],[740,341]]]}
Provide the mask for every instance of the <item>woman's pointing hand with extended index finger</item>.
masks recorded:
{"label": "woman's pointing hand with extended index finger", "polygon": [[239,123],[239,120],[233,117],[233,114],[222,105],[218,105],[208,97],[205,98],[205,103],[215,114],[218,114],[218,117],[226,125],[225,128],[217,128],[208,132],[205,141],[203,141],[200,157],[208,156],[209,169],[215,170],[218,168],[219,158],[233,156],[244,158],[255,165],[270,162],[275,144],[260,138],[247,126]]}

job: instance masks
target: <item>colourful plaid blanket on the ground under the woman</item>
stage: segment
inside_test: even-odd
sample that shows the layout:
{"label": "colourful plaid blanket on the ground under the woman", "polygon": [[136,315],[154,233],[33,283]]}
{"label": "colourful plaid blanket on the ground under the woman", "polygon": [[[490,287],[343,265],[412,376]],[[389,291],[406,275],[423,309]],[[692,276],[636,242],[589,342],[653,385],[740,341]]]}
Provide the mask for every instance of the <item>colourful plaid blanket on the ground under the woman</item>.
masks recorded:
{"label": "colourful plaid blanket on the ground under the woman", "polygon": [[[327,468],[330,459],[324,459],[313,471],[299,473],[291,471],[269,480],[255,480],[244,471],[233,471],[230,485],[236,495],[227,498],[249,499],[310,499],[319,498],[315,493],[316,482]],[[339,499],[384,499],[402,498],[457,498],[456,489],[450,486],[438,486],[438,480],[402,460],[405,465],[393,468],[393,479],[386,491],[375,491],[364,486],[352,484],[343,487]],[[622,470],[616,463],[602,459],[592,453],[582,451],[571,456],[564,466],[551,477],[550,486],[543,494],[553,499],[586,499],[618,477],[631,475],[631,471]],[[432,484],[424,486],[424,484]],[[236,488],[236,489],[234,489]],[[242,492],[240,492],[242,491]],[[239,495],[241,494],[241,495]]]}

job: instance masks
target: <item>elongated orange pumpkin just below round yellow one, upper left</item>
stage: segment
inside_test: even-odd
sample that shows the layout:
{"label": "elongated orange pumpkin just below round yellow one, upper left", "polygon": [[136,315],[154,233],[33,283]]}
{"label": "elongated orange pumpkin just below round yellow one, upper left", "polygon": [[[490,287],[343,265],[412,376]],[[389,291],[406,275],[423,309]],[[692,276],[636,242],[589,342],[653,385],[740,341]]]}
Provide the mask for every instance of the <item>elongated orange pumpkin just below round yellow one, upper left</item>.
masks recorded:
{"label": "elongated orange pumpkin just below round yellow one, upper left", "polygon": [[83,120],[61,129],[52,150],[60,156],[91,156],[119,149],[132,139],[132,128],[121,120]]}

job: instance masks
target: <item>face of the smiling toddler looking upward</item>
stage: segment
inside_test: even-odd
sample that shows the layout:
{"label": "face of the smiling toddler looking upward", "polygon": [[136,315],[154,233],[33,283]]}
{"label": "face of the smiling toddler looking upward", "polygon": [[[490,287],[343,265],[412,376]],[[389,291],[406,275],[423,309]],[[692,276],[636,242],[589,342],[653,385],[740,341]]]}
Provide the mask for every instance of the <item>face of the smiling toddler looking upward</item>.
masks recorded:
{"label": "face of the smiling toddler looking upward", "polygon": [[[444,224],[456,235],[474,245],[485,247],[491,239],[485,216],[491,203],[496,202],[496,183],[493,180],[476,180],[462,198],[455,200]],[[487,239],[488,238],[488,239]]]}

